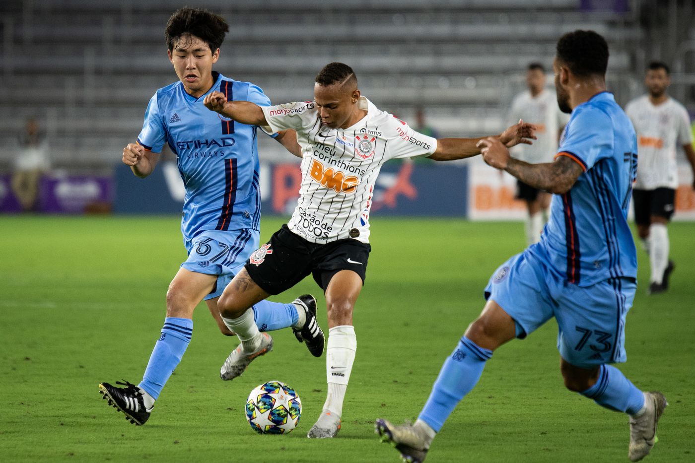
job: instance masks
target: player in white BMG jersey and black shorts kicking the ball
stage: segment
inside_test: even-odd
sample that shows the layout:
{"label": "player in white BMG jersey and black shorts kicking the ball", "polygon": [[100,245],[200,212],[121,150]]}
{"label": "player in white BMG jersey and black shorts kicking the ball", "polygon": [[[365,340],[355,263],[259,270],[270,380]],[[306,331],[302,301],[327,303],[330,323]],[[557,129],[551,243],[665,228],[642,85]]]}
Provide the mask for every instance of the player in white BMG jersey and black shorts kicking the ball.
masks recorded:
{"label": "player in white BMG jersey and black shorts kicking the ball", "polygon": [[[252,254],[220,298],[224,323],[242,341],[223,368],[230,379],[236,377],[272,342],[259,333],[247,309],[313,274],[325,291],[328,310],[328,394],[307,437],[334,437],[357,349],[352,312],[366,276],[369,213],[379,169],[394,158],[473,156],[480,152],[480,138],[437,140],[414,131],[361,96],[357,77],[343,63],[330,63],[319,72],[314,101],[261,108],[214,92],[205,104],[245,124],[295,129],[303,156],[300,199],[291,220]],[[532,130],[519,122],[498,137],[509,146],[531,143],[526,138],[532,138]]]}

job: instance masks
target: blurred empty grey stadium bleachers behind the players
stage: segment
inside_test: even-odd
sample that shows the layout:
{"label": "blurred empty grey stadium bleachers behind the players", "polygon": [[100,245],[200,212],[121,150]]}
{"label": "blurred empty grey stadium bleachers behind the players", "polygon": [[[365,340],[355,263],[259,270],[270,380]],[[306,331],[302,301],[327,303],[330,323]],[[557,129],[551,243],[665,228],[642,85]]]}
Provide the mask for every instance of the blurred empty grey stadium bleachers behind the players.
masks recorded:
{"label": "blurred empty grey stadium bleachers behind the players", "polygon": [[[358,73],[363,95],[405,120],[424,106],[444,136],[502,128],[505,107],[531,61],[548,67],[566,31],[594,29],[612,45],[611,72],[630,70],[639,38],[630,15],[584,13],[577,0],[206,1],[231,31],[216,66],[257,83],[277,103],[311,99],[332,60]],[[51,138],[54,163],[108,165],[142,124],[154,90],[175,81],[156,0],[3,2],[0,163],[30,115]],[[414,122],[414,121],[413,121]],[[263,138],[261,138],[263,139]],[[265,156],[283,156],[262,141]]]}

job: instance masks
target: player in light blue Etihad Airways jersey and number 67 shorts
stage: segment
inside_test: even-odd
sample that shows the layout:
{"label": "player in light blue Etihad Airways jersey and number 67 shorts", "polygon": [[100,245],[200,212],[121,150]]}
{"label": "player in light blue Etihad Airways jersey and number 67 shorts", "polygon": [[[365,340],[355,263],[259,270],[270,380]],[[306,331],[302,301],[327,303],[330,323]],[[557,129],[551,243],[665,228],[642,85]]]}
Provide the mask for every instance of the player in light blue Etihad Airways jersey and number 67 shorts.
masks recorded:
{"label": "player in light blue Etihad Airways jersey and number 67 shorts", "polygon": [[[257,127],[220,117],[203,105],[204,96],[213,91],[223,92],[230,100],[270,104],[263,90],[252,83],[213,72],[227,31],[227,22],[206,10],[181,8],[170,17],[165,32],[168,54],[180,80],[157,90],[147,106],[138,143],[123,149],[123,162],[138,177],[147,177],[164,145],[169,145],[186,186],[181,233],[188,259],[167,291],[167,316],[142,382],[138,386],[117,383],[125,387],[99,384],[108,403],[138,425],[149,419],[154,401],[181,362],[193,334],[193,309],[201,300],[206,301],[222,333],[234,334],[222,323],[217,301],[259,247]],[[273,136],[300,156],[294,131]],[[297,339],[320,357],[324,336],[315,314],[316,300],[311,295],[302,295],[291,304],[261,301],[254,306],[259,330],[293,327]],[[220,376],[224,379],[224,367]]]}

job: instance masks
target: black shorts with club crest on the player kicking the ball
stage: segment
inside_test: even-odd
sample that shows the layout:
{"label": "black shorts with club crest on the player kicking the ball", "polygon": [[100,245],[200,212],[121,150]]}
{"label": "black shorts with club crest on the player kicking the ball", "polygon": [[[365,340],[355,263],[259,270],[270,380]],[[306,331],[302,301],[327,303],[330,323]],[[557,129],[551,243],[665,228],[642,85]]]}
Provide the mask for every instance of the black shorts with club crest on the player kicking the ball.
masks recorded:
{"label": "black shorts with club crest on the player kicking the ball", "polygon": [[293,234],[287,225],[270,237],[246,261],[246,271],[263,291],[279,294],[313,274],[326,291],[340,270],[353,270],[364,283],[372,247],[352,238],[318,244]]}

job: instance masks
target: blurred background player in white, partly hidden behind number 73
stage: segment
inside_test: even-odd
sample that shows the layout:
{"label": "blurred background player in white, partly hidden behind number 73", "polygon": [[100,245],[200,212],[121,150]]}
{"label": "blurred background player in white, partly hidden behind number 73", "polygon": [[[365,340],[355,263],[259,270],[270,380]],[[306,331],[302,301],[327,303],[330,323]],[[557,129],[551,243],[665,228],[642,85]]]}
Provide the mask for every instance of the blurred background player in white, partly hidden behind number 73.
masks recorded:
{"label": "blurred background player in white, partly hidden behind number 73", "polygon": [[[546,89],[546,70],[540,63],[531,63],[526,71],[528,90],[516,95],[509,110],[509,124],[525,120],[536,126],[537,140],[533,145],[518,145],[510,152],[512,156],[530,164],[553,161],[562,128],[569,120],[568,115],[557,107],[553,92]],[[516,179],[516,198],[526,203],[525,232],[528,244],[541,239],[543,225],[548,220],[550,193],[534,188]]]}

